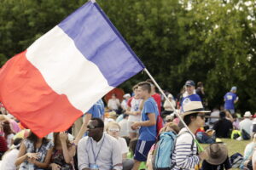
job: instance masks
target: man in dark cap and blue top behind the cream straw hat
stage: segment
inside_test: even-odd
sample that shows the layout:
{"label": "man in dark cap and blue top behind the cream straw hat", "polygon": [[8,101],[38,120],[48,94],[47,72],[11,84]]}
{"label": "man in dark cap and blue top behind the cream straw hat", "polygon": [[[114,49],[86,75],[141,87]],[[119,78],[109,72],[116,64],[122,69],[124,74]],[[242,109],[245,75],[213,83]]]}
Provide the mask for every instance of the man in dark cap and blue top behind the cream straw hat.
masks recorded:
{"label": "man in dark cap and blue top behind the cream straw hat", "polygon": [[195,82],[188,80],[185,83],[186,92],[183,94],[183,99],[181,102],[181,112],[183,113],[183,105],[186,105],[190,101],[201,101],[201,98],[198,94],[195,94]]}

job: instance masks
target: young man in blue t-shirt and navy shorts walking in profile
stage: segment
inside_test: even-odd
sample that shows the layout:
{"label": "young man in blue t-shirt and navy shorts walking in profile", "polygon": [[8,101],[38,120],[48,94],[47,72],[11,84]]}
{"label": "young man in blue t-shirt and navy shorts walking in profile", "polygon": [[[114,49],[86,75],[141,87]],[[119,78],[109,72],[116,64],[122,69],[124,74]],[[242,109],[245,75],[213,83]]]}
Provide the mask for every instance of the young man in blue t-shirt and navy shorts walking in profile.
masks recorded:
{"label": "young man in blue t-shirt and navy shorts walking in profile", "polygon": [[156,119],[159,115],[157,104],[151,97],[151,85],[149,82],[138,83],[138,94],[145,101],[142,111],[142,121],[134,122],[132,129],[139,130],[139,139],[134,154],[134,166],[132,170],[137,170],[141,161],[147,161],[148,151],[156,139]]}

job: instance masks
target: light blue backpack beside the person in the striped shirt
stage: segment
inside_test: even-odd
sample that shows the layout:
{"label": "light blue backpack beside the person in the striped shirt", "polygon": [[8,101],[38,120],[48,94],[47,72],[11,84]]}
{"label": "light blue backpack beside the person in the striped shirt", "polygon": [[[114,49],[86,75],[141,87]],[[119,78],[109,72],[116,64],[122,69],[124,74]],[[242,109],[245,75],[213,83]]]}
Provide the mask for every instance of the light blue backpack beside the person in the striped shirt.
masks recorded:
{"label": "light blue backpack beside the person in the striped shirt", "polygon": [[154,170],[169,170],[172,166],[172,153],[177,135],[173,132],[160,133],[160,140],[155,144],[152,156]]}

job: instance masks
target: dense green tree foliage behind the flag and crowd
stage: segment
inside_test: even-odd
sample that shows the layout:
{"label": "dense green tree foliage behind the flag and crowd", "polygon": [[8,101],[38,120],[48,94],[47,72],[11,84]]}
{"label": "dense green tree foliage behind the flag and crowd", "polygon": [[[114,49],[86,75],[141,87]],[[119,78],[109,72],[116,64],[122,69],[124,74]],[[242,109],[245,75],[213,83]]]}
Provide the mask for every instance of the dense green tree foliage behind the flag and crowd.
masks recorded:
{"label": "dense green tree foliage behind the flag and crowd", "polygon": [[[79,8],[85,0],[0,2],[0,65]],[[204,82],[209,105],[238,87],[241,111],[256,111],[256,5],[237,0],[98,0],[160,86],[177,94]],[[229,3],[227,3],[229,2]],[[123,83],[131,86],[147,76]]]}

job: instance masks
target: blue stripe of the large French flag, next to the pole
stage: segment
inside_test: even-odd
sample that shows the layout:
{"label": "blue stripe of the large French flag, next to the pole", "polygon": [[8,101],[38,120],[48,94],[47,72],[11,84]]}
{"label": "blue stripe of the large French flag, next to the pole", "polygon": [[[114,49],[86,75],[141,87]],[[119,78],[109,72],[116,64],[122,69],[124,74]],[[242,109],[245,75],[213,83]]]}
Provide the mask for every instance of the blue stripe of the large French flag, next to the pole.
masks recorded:
{"label": "blue stripe of the large French flag, next to the pole", "polygon": [[96,3],[85,3],[58,26],[84,57],[95,63],[110,86],[142,71],[143,63]]}

